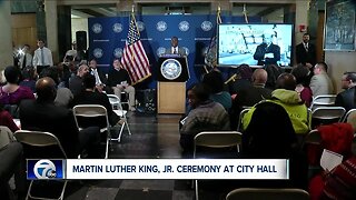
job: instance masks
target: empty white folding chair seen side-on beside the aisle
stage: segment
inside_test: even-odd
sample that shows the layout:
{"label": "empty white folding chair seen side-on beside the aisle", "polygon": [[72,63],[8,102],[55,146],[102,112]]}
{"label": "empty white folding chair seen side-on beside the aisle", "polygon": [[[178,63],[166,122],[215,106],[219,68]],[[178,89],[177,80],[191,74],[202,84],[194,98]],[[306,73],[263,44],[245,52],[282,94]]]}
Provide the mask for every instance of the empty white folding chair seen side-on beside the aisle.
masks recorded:
{"label": "empty white folding chair seen side-on beside the aisle", "polygon": [[129,132],[129,136],[131,136],[129,123],[128,123],[127,118],[126,118],[127,110],[122,109],[121,101],[116,94],[107,94],[107,96],[108,96],[109,101],[110,101],[110,103],[112,106],[113,112],[116,114],[118,114],[121,119],[123,119],[123,123],[121,124],[121,129],[120,129],[120,133],[119,133],[118,138],[111,138],[111,140],[116,140],[116,141],[120,142],[121,141],[121,134],[122,134],[122,131],[123,131],[125,127],[127,128],[127,131]]}

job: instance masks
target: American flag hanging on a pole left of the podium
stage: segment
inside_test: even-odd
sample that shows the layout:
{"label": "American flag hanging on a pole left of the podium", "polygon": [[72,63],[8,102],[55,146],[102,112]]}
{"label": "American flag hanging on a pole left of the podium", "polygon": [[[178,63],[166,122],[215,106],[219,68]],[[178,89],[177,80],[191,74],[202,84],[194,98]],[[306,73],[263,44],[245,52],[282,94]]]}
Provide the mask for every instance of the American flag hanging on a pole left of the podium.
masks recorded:
{"label": "American flag hanging on a pole left of the podium", "polygon": [[129,72],[132,84],[141,82],[151,76],[149,61],[140,40],[134,13],[127,36],[126,46],[121,57],[122,67]]}

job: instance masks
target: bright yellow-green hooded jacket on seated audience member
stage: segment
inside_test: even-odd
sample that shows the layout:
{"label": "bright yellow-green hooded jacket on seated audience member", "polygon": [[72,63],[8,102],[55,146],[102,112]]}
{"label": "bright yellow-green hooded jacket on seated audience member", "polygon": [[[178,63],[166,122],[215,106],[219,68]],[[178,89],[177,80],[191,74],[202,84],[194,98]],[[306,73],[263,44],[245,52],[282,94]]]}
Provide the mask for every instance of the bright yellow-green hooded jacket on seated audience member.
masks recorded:
{"label": "bright yellow-green hooded jacket on seated audience member", "polygon": [[[299,94],[296,91],[276,89],[271,92],[271,99],[264,101],[274,102],[285,108],[291,121],[293,128],[297,134],[305,134],[309,132],[312,114],[309,114],[307,107],[300,100]],[[253,107],[244,116],[244,130],[248,127],[255,109],[256,108]],[[270,113],[271,117],[273,114],[274,113]]]}

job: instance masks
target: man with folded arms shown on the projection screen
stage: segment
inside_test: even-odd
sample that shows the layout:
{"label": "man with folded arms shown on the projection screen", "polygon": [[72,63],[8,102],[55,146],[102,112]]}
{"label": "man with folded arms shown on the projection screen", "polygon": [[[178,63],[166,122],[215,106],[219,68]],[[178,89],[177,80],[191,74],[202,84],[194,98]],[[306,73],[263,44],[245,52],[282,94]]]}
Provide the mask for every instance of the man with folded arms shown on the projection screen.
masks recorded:
{"label": "man with folded arms shown on the projection screen", "polygon": [[276,32],[264,33],[264,42],[257,46],[254,53],[254,59],[257,60],[257,66],[277,64],[280,60],[280,48],[273,43]]}

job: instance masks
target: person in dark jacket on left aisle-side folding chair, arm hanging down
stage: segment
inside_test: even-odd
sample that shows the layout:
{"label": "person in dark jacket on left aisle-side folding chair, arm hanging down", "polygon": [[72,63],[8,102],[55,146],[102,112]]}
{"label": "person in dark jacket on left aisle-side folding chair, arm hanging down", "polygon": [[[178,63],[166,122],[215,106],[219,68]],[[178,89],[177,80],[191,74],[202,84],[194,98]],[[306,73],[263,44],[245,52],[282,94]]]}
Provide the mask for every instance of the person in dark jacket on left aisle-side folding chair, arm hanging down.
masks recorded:
{"label": "person in dark jacket on left aisle-side folding chair, arm hanging down", "polygon": [[82,81],[85,90],[73,99],[73,106],[101,104],[107,109],[110,124],[115,126],[120,120],[120,117],[112,111],[108,96],[106,93],[96,91],[96,78],[88,73],[83,77]]}

